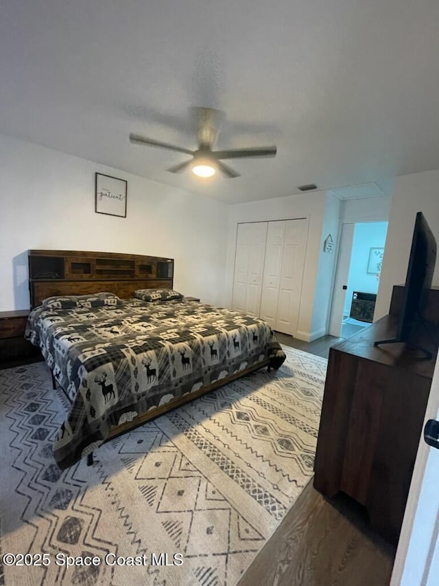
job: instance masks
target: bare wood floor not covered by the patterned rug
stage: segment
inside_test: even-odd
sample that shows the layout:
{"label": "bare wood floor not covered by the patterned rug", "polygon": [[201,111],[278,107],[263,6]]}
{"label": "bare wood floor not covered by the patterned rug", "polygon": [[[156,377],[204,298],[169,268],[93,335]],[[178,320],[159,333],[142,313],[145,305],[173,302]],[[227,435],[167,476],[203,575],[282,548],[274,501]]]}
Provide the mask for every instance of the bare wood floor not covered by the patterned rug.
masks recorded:
{"label": "bare wood floor not covered by the patterned rug", "polygon": [[[324,358],[342,340],[276,337]],[[238,586],[388,586],[394,555],[394,546],[370,528],[359,504],[342,494],[325,499],[311,480]]]}

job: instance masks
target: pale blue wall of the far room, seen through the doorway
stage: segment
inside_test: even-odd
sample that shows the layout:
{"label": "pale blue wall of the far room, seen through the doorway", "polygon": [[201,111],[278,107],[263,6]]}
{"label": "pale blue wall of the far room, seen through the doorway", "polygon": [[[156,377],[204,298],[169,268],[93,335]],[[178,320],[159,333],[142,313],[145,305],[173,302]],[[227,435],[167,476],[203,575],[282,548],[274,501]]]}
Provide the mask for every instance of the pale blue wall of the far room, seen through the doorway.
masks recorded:
{"label": "pale blue wall of the far room, seen through the doorway", "polygon": [[368,273],[368,260],[371,248],[385,247],[387,227],[387,222],[355,224],[344,315],[349,315],[351,311],[353,291],[362,293],[377,293],[378,291],[379,279],[377,275]]}

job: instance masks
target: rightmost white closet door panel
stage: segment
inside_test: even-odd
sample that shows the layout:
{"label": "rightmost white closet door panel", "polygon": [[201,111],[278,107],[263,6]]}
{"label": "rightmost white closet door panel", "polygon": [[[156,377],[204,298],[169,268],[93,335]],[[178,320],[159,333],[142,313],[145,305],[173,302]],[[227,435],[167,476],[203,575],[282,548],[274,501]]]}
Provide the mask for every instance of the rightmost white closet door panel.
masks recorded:
{"label": "rightmost white closet door panel", "polygon": [[287,220],[278,306],[274,329],[292,336],[297,333],[300,295],[305,268],[307,220]]}

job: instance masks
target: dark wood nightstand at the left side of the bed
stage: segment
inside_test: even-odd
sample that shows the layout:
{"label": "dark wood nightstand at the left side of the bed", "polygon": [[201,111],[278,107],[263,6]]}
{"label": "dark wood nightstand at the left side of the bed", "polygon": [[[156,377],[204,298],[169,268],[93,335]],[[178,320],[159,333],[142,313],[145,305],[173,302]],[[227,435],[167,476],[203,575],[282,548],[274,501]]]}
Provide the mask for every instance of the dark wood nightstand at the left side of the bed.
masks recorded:
{"label": "dark wood nightstand at the left side of the bed", "polygon": [[42,360],[40,349],[25,340],[28,309],[0,311],[0,368]]}

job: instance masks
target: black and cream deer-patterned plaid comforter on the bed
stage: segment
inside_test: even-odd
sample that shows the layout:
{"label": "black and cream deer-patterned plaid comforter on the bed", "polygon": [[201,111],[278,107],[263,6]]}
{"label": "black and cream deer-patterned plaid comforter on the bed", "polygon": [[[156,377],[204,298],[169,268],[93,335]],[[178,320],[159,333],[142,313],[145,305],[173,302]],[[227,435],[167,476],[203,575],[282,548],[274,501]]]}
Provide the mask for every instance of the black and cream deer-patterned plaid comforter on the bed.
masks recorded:
{"label": "black and cream deer-patterned plaid comforter on the bed", "polygon": [[99,308],[39,306],[25,337],[40,346],[71,409],[54,442],[67,468],[112,427],[183,394],[285,354],[261,319],[186,300]]}

